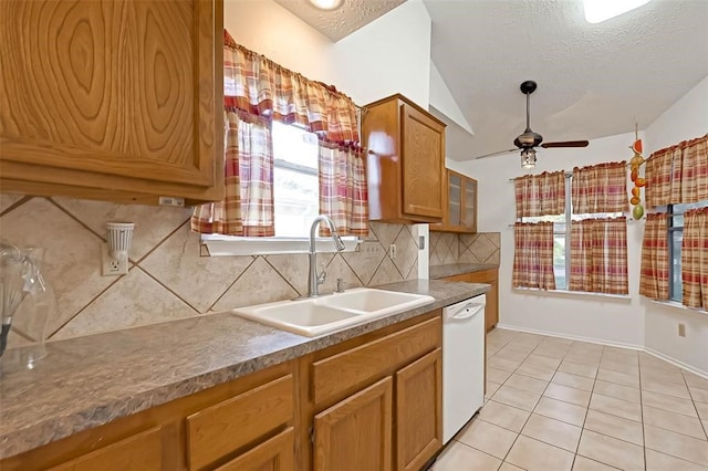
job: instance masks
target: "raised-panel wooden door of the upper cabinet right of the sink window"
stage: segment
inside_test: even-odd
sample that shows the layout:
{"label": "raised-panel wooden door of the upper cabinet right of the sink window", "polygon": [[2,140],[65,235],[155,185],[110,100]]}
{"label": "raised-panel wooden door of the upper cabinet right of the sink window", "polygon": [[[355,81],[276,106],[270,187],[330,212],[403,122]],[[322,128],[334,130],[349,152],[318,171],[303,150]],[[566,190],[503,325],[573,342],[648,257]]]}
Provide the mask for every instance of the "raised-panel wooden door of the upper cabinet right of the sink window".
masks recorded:
{"label": "raised-panel wooden door of the upper cabinet right of the sink window", "polygon": [[403,212],[442,218],[445,126],[410,105],[400,105]]}

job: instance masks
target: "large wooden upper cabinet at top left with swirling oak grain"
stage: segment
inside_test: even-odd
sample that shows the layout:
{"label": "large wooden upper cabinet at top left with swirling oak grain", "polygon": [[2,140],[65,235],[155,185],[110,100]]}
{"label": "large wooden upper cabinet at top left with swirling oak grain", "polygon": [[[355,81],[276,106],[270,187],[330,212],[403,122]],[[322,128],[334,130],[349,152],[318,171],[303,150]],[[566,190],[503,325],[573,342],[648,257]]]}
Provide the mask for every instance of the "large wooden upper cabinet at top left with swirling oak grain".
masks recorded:
{"label": "large wooden upper cabinet at top left with swirling oak grain", "polygon": [[3,191],[223,192],[221,0],[0,2]]}

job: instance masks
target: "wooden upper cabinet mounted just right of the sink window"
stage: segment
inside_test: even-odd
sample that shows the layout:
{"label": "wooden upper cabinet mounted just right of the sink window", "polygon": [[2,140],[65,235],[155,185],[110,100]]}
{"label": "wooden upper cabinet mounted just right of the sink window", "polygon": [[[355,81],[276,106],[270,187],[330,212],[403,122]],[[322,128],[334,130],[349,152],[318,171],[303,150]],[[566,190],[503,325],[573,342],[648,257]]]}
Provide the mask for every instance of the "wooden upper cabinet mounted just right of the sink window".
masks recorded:
{"label": "wooden upper cabinet mounted just right of the sink window", "polygon": [[445,123],[402,95],[366,105],[369,219],[440,222],[445,210]]}

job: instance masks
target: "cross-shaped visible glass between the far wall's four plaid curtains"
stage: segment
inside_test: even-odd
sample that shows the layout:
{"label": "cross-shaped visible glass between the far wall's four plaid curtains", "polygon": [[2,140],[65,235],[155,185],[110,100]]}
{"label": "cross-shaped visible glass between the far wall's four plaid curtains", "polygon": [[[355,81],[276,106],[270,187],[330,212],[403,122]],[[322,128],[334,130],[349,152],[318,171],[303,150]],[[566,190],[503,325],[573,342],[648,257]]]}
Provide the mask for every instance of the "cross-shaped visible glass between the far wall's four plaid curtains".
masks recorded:
{"label": "cross-shaped visible glass between the far wall's four plaid curtains", "polygon": [[572,179],[572,175],[565,176],[565,211],[562,214],[524,217],[520,219],[521,222],[553,222],[553,273],[555,275],[556,290],[568,290],[568,281],[571,273],[571,221],[622,216],[622,212],[573,214],[572,198],[570,198]]}

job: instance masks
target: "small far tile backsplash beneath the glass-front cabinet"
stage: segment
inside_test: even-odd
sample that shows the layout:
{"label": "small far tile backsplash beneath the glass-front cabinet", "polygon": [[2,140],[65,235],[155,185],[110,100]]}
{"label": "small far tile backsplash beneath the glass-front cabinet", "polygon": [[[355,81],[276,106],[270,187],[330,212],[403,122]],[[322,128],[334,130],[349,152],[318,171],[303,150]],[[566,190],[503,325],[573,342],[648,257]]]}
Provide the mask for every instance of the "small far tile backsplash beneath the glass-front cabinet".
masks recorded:
{"label": "small far tile backsplash beneath the glass-front cabinet", "polygon": [[500,247],[500,232],[430,232],[430,266],[449,263],[499,264]]}

